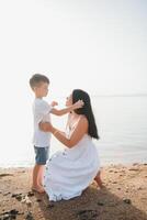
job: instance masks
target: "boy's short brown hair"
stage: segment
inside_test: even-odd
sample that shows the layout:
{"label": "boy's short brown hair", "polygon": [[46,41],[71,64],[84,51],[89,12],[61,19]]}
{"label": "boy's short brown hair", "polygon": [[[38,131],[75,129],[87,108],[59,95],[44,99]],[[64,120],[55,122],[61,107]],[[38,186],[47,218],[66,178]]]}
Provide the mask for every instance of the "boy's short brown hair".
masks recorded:
{"label": "boy's short brown hair", "polygon": [[30,86],[32,89],[39,86],[41,82],[49,84],[49,79],[42,74],[34,74],[30,79]]}

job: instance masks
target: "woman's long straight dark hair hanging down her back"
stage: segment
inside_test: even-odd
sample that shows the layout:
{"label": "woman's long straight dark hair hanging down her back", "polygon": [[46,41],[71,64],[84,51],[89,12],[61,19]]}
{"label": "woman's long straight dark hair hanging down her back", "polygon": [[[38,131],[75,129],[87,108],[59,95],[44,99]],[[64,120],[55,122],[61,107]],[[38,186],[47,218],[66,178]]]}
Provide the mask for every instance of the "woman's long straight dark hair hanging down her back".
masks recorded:
{"label": "woman's long straight dark hair hanging down her back", "polygon": [[75,103],[79,99],[81,99],[84,102],[84,106],[81,109],[76,109],[75,112],[77,114],[83,114],[88,119],[88,122],[89,122],[88,134],[91,138],[100,139],[98,135],[98,129],[97,129],[95,119],[93,116],[89,95],[81,89],[75,89],[72,91],[72,103]]}

